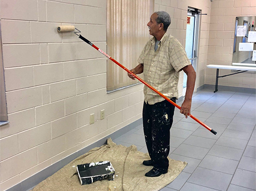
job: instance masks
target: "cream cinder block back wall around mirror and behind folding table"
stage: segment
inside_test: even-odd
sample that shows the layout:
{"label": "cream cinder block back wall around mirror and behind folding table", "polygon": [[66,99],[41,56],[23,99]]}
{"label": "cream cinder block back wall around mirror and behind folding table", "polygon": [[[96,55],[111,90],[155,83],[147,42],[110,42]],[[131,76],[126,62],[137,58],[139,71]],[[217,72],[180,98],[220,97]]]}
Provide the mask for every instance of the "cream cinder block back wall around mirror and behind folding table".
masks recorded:
{"label": "cream cinder block back wall around mirror and behind folding table", "polygon": [[[214,0],[212,2],[208,64],[232,65],[236,16],[255,15],[255,0]],[[230,73],[230,70],[220,70],[219,75]],[[216,70],[208,68],[206,84],[215,84],[215,77]],[[256,88],[256,74],[241,73],[220,78],[219,85]]]}

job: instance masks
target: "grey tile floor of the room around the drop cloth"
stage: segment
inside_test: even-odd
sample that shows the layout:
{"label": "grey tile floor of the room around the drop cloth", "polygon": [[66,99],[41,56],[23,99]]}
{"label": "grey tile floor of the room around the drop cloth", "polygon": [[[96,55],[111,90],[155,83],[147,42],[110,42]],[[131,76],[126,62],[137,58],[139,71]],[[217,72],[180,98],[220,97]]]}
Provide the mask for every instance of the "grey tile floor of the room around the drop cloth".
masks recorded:
{"label": "grey tile floor of the room around the drop cloth", "polygon": [[[176,110],[169,157],[188,164],[161,191],[256,190],[256,94],[213,91],[194,93],[191,114],[217,135]],[[147,152],[142,126],[114,142]]]}

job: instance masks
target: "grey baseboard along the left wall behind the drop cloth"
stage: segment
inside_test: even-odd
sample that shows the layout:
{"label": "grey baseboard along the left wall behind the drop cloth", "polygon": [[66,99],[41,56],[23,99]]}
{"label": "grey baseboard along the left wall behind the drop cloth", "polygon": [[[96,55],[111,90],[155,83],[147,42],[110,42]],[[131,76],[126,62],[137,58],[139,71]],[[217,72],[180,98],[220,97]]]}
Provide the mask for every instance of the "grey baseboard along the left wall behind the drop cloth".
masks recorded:
{"label": "grey baseboard along the left wall behind the drop cloth", "polygon": [[40,172],[36,173],[35,175],[21,181],[21,183],[16,184],[15,186],[8,188],[6,191],[25,191],[25,190],[31,190],[33,187],[38,185],[41,181],[45,180],[49,176],[52,176],[55,172],[66,166],[66,164],[70,163],[74,159],[78,158],[79,156],[83,155],[84,153],[87,153],[89,150],[100,147],[104,144],[106,144],[106,141],[108,138],[112,138],[112,140],[122,136],[123,134],[131,131],[132,129],[142,125],[142,118],[134,121],[133,123],[119,129],[118,131],[101,138],[101,140],[92,143],[91,145],[88,145],[87,147],[84,147],[83,149],[67,156],[66,158],[62,159],[61,161],[58,161],[51,166],[47,167],[44,170],[41,170]]}

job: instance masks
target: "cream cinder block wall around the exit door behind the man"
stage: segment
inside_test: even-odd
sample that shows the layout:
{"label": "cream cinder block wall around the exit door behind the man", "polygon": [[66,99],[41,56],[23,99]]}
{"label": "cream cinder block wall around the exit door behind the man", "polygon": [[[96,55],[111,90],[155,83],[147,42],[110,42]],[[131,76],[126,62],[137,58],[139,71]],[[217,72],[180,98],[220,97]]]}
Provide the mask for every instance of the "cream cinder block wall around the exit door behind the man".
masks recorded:
{"label": "cream cinder block wall around the exit door behind the man", "polygon": [[[155,11],[166,11],[172,18],[172,23],[168,29],[168,33],[176,37],[183,47],[186,44],[186,20],[187,20],[187,7],[198,8],[202,10],[199,28],[199,51],[197,62],[197,80],[195,88],[199,88],[205,83],[206,65],[207,65],[207,51],[209,40],[209,25],[210,25],[210,8],[211,1],[209,0],[155,0]],[[180,73],[180,80],[178,82],[179,97],[182,97],[183,90],[183,76]]]}

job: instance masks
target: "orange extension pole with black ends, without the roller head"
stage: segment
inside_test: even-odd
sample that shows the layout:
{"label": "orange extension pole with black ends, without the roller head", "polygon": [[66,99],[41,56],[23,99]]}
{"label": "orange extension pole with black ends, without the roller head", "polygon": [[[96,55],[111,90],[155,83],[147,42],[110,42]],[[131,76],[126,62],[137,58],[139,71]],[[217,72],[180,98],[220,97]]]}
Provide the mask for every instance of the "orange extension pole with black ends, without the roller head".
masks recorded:
{"label": "orange extension pole with black ends, without the roller head", "polygon": [[[104,53],[103,50],[99,49],[97,46],[93,45],[89,40],[87,40],[86,38],[84,38],[83,36],[79,36],[80,39],[82,39],[84,42],[87,42],[89,45],[91,45],[93,48],[95,48],[96,50],[98,50],[101,54],[105,55],[108,59],[112,60],[114,63],[116,63],[118,66],[120,66],[121,68],[123,68],[126,72],[132,74],[136,79],[138,79],[140,82],[142,82],[143,84],[147,85],[151,90],[155,91],[157,94],[161,95],[161,97],[165,98],[167,101],[169,101],[170,103],[172,103],[172,105],[174,105],[175,107],[177,107],[178,109],[181,109],[180,106],[178,106],[175,102],[173,102],[172,100],[170,100],[169,98],[167,98],[163,93],[157,91],[155,88],[153,88],[151,85],[149,85],[147,82],[143,81],[140,77],[136,76],[135,74],[133,74],[130,70],[128,70],[126,67],[124,67],[122,64],[118,63],[115,59],[113,59],[112,57],[108,56],[106,53]],[[200,125],[202,125],[203,127],[207,128],[211,133],[213,134],[217,134],[216,131],[214,131],[214,129],[210,128],[209,126],[207,126],[206,124],[202,123],[202,121],[200,121],[199,119],[195,118],[194,116],[190,115],[190,117],[192,119],[194,119],[195,121],[197,121]]]}

